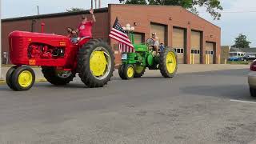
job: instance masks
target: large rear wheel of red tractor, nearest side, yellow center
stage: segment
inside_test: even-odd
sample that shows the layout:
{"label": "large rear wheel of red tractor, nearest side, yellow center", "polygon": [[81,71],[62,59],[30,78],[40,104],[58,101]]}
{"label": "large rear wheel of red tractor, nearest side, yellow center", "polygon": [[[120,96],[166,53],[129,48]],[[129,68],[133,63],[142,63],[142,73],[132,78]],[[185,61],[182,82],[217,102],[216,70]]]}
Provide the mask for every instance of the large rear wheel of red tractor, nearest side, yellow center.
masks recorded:
{"label": "large rear wheel of red tractor, nearest side, yellow center", "polygon": [[92,39],[78,50],[78,73],[88,87],[102,87],[114,72],[114,54],[102,39]]}

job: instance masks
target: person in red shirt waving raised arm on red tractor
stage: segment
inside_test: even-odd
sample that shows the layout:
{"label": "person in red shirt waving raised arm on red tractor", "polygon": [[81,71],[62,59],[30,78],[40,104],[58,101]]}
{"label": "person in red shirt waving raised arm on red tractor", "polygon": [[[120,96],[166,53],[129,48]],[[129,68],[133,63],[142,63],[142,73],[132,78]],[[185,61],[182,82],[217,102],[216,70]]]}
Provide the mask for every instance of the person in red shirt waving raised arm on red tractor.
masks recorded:
{"label": "person in red shirt waving raised arm on red tractor", "polygon": [[77,30],[79,38],[92,38],[92,26],[94,25],[94,22],[96,22],[93,9],[90,9],[90,14],[92,16],[91,21],[89,21],[85,15],[82,15],[82,22]]}

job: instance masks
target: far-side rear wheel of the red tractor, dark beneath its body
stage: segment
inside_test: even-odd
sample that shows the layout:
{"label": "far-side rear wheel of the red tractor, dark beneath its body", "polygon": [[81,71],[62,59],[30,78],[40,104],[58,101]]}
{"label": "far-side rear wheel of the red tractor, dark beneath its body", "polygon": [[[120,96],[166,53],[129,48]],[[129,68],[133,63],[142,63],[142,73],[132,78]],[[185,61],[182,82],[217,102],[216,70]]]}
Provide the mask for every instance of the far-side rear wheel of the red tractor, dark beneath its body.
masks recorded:
{"label": "far-side rear wheel of the red tractor, dark beneath its body", "polygon": [[75,73],[72,71],[59,71],[52,66],[42,66],[42,74],[48,82],[55,86],[65,86],[75,77]]}

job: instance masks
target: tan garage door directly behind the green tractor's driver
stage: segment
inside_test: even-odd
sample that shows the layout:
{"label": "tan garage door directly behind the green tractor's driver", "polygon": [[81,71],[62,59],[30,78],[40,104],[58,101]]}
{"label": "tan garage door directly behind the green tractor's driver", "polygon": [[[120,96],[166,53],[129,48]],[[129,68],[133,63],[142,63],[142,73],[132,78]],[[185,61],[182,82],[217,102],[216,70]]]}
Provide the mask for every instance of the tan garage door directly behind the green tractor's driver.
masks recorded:
{"label": "tan garage door directly behind the green tractor's driver", "polygon": [[166,26],[151,24],[150,25],[150,37],[152,33],[156,33],[158,41],[166,44]]}

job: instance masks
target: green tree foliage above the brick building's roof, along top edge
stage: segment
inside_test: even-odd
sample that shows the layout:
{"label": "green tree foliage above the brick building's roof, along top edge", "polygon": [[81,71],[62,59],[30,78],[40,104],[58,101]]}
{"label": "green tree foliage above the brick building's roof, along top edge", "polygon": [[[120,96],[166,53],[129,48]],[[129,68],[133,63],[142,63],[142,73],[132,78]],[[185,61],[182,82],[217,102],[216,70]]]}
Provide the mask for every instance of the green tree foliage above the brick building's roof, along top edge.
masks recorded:
{"label": "green tree foliage above the brick building's roof, along top edge", "polygon": [[126,4],[149,4],[149,5],[170,5],[182,6],[198,14],[197,7],[206,7],[208,12],[214,19],[220,19],[221,14],[219,10],[223,10],[220,0],[126,0]]}

